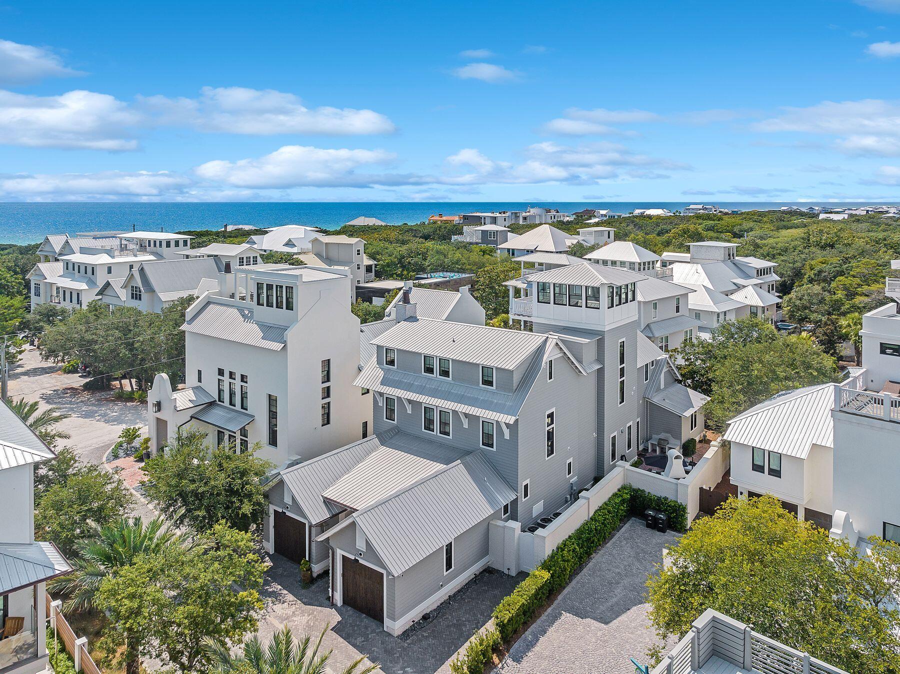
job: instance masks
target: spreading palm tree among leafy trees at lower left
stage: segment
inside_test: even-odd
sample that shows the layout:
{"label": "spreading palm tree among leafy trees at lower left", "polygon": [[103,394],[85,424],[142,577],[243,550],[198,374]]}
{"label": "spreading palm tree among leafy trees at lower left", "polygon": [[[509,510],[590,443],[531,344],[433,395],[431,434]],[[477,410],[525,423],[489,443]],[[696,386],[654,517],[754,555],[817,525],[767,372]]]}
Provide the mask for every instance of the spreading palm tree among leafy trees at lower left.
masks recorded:
{"label": "spreading palm tree among leafy trees at lower left", "polygon": [[49,582],[48,589],[67,597],[65,612],[94,607],[94,596],[104,578],[134,562],[140,554],[158,553],[169,545],[184,548],[194,543],[162,517],[145,524],[140,517],[120,517],[106,526],[88,523],[93,533],[76,544],[74,571]]}

